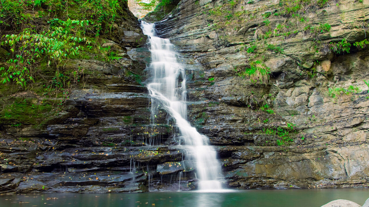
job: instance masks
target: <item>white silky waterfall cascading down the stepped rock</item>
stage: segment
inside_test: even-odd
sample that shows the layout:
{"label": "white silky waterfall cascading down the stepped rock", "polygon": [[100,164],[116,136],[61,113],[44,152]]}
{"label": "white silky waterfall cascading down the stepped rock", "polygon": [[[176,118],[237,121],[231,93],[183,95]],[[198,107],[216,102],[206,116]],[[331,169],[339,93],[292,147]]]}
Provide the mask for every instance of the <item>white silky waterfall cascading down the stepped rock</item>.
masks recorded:
{"label": "white silky waterfall cascading down the stepped rock", "polygon": [[[220,162],[216,152],[209,145],[208,137],[200,134],[187,122],[186,106],[186,73],[184,65],[177,60],[174,45],[169,39],[155,36],[154,24],[141,22],[145,35],[149,36],[151,64],[149,66],[152,77],[146,87],[150,91],[151,120],[156,116],[156,110],[161,105],[175,119],[179,129],[183,146],[187,149],[188,158],[196,162],[199,190],[220,191],[222,189]],[[182,83],[178,85],[179,78]]]}

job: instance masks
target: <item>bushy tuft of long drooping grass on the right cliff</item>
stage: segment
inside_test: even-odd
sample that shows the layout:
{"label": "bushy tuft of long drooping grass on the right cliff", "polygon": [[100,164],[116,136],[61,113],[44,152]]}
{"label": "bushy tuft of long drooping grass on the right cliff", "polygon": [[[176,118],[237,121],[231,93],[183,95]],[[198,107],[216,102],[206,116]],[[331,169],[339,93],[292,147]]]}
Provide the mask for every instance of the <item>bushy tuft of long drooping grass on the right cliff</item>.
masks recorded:
{"label": "bushy tuft of long drooping grass on the right cliff", "polygon": [[261,60],[256,60],[250,63],[250,67],[246,68],[244,72],[238,73],[238,76],[244,78],[250,77],[253,83],[267,84],[269,81],[270,69],[266,67]]}

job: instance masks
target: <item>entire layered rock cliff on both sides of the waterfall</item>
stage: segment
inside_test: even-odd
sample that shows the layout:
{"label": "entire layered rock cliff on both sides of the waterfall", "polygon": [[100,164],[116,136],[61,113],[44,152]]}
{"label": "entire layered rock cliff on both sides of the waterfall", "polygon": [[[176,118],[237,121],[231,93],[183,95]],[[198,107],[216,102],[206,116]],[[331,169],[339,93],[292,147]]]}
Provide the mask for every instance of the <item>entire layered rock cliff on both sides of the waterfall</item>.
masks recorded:
{"label": "entire layered rock cliff on both sides of the waterfall", "polygon": [[[305,23],[274,15],[279,1],[183,0],[157,23],[160,36],[183,54],[189,119],[217,148],[228,187],[368,185],[363,80],[369,80],[369,52],[353,45],[369,35],[368,7],[366,0],[328,1],[301,13]],[[63,110],[40,126],[1,126],[1,192],[196,188],[194,164],[182,161],[172,119],[159,109],[158,124],[151,124],[150,97],[141,83],[150,53],[139,22],[130,17],[104,43],[123,53],[117,62],[66,64],[85,71]],[[278,25],[293,30],[280,35]],[[351,43],[349,53],[326,51],[342,38]],[[257,52],[248,50],[252,46]],[[239,75],[254,60],[270,68],[267,83]]]}

